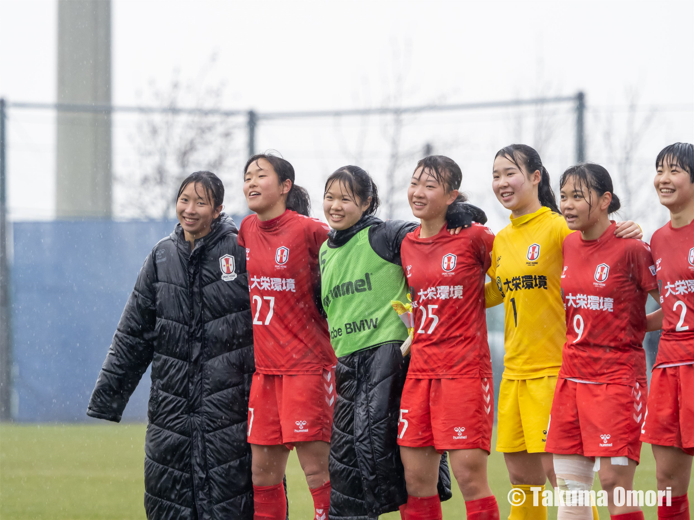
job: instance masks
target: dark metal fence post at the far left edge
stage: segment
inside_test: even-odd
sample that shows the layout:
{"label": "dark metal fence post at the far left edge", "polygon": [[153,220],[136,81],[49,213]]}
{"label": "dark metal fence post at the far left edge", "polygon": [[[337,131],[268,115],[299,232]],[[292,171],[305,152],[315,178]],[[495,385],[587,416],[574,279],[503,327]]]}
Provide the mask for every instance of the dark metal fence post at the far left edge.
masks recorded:
{"label": "dark metal fence post at the far left edge", "polygon": [[6,103],[0,99],[0,421],[12,419],[12,345],[10,269],[7,259]]}

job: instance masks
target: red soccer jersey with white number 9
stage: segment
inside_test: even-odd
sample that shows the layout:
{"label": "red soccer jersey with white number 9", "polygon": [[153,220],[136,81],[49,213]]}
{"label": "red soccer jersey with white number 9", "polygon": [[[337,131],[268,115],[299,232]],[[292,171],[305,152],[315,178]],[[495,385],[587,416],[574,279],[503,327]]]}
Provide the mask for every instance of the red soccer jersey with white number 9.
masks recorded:
{"label": "red soccer jersey with white number 9", "polygon": [[559,377],[633,385],[645,381],[641,343],[648,291],[657,288],[648,244],[618,239],[612,223],[599,239],[564,239],[561,295],[566,344]]}

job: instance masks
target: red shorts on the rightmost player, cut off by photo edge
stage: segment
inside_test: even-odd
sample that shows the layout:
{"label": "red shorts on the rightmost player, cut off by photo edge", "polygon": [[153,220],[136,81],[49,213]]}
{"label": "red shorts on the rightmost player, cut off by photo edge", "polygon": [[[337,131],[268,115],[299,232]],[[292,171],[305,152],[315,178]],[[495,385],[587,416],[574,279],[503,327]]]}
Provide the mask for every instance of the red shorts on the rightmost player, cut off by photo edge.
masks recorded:
{"label": "red shorts on the rightmost player, cut off by photo edge", "polygon": [[694,365],[653,369],[641,440],[694,455]]}

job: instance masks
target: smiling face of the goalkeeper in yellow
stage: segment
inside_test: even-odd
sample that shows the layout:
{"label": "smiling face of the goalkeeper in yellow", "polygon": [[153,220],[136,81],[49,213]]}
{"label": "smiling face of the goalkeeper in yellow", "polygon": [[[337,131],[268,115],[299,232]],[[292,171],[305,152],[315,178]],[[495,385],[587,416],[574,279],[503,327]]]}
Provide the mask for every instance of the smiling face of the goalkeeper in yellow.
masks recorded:
{"label": "smiling face of the goalkeeper in yellow", "polygon": [[[518,164],[523,163],[519,161]],[[541,178],[539,170],[528,175],[508,157],[500,155],[494,159],[491,187],[499,202],[515,213],[539,204],[537,187]]]}

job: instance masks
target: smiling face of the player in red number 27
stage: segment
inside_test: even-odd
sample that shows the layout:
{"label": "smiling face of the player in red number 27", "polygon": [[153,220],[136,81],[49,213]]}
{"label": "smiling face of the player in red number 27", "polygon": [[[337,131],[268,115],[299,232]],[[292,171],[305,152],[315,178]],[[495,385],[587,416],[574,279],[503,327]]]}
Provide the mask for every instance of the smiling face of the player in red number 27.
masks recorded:
{"label": "smiling face of the player in red number 27", "polygon": [[282,207],[285,205],[290,189],[291,180],[280,182],[280,177],[266,159],[261,158],[252,162],[244,173],[244,196],[246,196],[248,209],[255,211],[261,220],[264,220],[262,215],[274,214],[277,212],[274,210],[278,210],[278,205]]}

